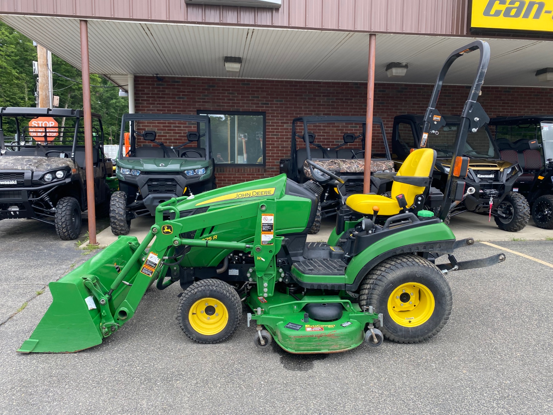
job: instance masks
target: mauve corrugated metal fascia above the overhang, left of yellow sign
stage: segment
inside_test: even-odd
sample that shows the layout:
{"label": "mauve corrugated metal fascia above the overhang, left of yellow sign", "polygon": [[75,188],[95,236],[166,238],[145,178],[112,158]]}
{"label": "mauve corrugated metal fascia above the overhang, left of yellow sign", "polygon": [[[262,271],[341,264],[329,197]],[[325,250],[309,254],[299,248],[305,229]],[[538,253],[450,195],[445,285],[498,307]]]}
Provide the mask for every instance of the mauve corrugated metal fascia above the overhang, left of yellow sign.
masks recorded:
{"label": "mauve corrugated metal fascia above the overhang, left of yellow sign", "polygon": [[279,9],[182,0],[0,0],[0,13],[465,35],[468,0],[283,0]]}

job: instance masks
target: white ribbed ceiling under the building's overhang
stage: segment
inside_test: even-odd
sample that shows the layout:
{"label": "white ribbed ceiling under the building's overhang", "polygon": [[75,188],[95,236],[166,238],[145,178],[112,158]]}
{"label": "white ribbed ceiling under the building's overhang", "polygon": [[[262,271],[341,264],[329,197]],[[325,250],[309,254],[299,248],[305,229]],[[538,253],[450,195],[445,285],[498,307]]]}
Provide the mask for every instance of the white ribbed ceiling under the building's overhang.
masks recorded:
{"label": "white ribbed ceiling under the building's overhang", "polygon": [[[79,20],[2,15],[4,22],[80,68]],[[127,74],[240,77],[318,81],[367,81],[368,34],[320,30],[229,27],[89,20],[91,72],[119,85]],[[433,84],[447,55],[470,38],[378,34],[376,81]],[[551,87],[535,71],[551,65],[553,42],[488,39],[492,58],[486,85]],[[225,56],[240,56],[240,72],[227,72]],[[458,60],[448,84],[472,81],[478,53]],[[403,77],[389,78],[385,66],[407,62]]]}

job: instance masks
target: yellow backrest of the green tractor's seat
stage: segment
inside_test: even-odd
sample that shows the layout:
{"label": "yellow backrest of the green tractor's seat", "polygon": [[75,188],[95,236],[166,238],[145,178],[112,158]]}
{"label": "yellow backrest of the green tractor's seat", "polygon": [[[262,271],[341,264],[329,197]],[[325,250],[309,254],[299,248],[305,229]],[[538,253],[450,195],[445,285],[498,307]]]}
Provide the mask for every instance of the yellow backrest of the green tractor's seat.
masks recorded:
{"label": "yellow backrest of the green tractor's seat", "polygon": [[[430,177],[435,163],[436,151],[434,149],[419,148],[407,156],[403,164],[401,164],[397,175]],[[415,196],[422,194],[424,189],[421,186],[394,181],[392,185],[392,199],[395,200],[395,196],[403,194],[407,201],[407,206],[411,206],[415,201]]]}

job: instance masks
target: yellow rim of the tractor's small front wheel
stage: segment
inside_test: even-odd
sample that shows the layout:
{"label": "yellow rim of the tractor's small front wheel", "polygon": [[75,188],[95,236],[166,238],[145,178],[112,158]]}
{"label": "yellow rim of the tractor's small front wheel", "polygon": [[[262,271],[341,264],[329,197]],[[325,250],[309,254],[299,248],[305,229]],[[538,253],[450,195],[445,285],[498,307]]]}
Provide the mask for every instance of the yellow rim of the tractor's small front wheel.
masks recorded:
{"label": "yellow rim of the tractor's small front wheel", "polygon": [[228,311],[225,304],[215,298],[206,297],[197,300],[188,313],[192,329],[205,336],[221,333],[228,323]]}

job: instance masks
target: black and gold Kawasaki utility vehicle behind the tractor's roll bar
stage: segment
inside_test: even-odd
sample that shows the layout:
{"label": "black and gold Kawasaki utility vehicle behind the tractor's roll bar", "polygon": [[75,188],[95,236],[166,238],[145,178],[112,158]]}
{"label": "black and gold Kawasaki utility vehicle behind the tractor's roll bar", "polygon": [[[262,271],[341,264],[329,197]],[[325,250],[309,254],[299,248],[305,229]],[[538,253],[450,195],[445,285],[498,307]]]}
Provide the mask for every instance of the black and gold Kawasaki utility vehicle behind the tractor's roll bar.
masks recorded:
{"label": "black and gold Kawasaki utility vehicle behind the tractor's roll bar", "polygon": [[[429,209],[437,209],[450,173],[461,117],[442,116],[436,110],[432,117],[436,119],[431,120],[429,136],[423,140],[422,125],[425,116],[396,116],[392,132],[392,157],[401,164],[411,149],[424,147],[424,141],[427,147],[436,150],[432,189],[425,205]],[[488,215],[490,220],[493,216],[495,224],[504,231],[516,232],[524,229],[530,219],[530,206],[522,195],[513,191],[515,181],[522,174],[520,165],[502,157],[486,125],[469,131],[461,153],[469,158],[465,194],[461,201],[455,201],[451,205],[446,223],[450,217],[469,211]]]}

